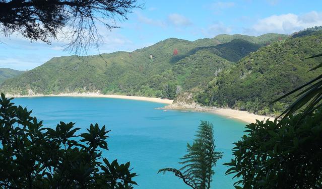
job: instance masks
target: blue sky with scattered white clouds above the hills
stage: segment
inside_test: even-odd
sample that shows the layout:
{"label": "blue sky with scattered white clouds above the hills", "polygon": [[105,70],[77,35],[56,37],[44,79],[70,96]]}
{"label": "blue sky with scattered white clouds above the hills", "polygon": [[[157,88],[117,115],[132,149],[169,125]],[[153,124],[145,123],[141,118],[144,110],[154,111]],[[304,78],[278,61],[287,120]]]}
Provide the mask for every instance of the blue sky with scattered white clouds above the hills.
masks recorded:
{"label": "blue sky with scattered white clouds above the hills", "polygon": [[[118,21],[120,28],[100,28],[104,41],[89,55],[115,51],[133,51],[167,38],[194,41],[218,34],[259,36],[265,33],[292,34],[322,25],[322,1],[296,0],[138,0],[144,9],[135,9],[128,20]],[[53,57],[70,56],[66,41],[51,45],[30,42],[19,34],[4,37],[0,33],[0,67],[33,69]]]}

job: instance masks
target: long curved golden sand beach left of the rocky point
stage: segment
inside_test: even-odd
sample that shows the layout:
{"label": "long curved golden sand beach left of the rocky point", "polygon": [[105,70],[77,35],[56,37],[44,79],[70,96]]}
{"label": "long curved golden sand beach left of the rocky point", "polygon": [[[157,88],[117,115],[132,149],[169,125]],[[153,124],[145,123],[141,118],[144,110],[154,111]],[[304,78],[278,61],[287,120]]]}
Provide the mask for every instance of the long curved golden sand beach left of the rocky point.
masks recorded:
{"label": "long curved golden sand beach left of the rocky point", "polygon": [[149,101],[154,103],[172,104],[173,100],[160,99],[154,97],[139,97],[139,96],[125,96],[118,94],[98,94],[98,93],[60,93],[60,94],[32,94],[32,95],[12,95],[6,94],[7,97],[26,98],[26,97],[94,97],[94,98],[111,98],[111,99],[127,99],[137,101]]}

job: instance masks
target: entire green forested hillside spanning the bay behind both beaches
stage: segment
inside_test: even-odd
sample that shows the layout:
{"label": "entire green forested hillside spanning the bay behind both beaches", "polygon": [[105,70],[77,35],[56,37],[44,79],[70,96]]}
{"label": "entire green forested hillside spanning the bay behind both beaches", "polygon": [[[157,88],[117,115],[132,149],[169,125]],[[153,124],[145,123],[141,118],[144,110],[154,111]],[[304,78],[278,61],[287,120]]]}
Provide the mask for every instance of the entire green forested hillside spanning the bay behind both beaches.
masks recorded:
{"label": "entire green forested hillside spanning the bay behind both beaches", "polygon": [[322,51],[321,36],[316,27],[292,36],[170,38],[133,52],[52,58],[0,88],[21,95],[99,92],[167,99],[187,92],[203,106],[276,116],[293,100],[272,100],[320,73],[307,72],[318,60],[305,58]]}

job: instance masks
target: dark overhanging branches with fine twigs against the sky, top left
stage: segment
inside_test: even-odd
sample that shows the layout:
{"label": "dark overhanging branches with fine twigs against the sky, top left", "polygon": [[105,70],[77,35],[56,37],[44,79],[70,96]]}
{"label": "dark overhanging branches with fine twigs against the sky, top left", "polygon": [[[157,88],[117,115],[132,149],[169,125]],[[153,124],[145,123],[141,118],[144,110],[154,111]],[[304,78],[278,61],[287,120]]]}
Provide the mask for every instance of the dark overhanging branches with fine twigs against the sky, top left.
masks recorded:
{"label": "dark overhanging branches with fine twigs against the sky, top left", "polygon": [[4,36],[14,32],[31,41],[50,43],[62,35],[66,49],[76,54],[101,43],[99,25],[117,28],[115,19],[127,20],[137,0],[0,0],[0,29]]}

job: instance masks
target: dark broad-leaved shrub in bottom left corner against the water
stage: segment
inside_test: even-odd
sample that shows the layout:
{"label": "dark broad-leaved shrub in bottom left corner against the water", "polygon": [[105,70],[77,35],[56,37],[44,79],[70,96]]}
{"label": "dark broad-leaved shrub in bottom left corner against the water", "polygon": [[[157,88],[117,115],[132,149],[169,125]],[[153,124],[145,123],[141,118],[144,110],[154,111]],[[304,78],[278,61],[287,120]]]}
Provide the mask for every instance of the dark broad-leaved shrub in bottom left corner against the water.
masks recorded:
{"label": "dark broad-leaved shrub in bottom left corner against the water", "polygon": [[75,123],[44,128],[31,111],[1,94],[0,187],[133,188],[130,162],[102,158],[108,150],[105,126],[91,125],[78,134]]}

